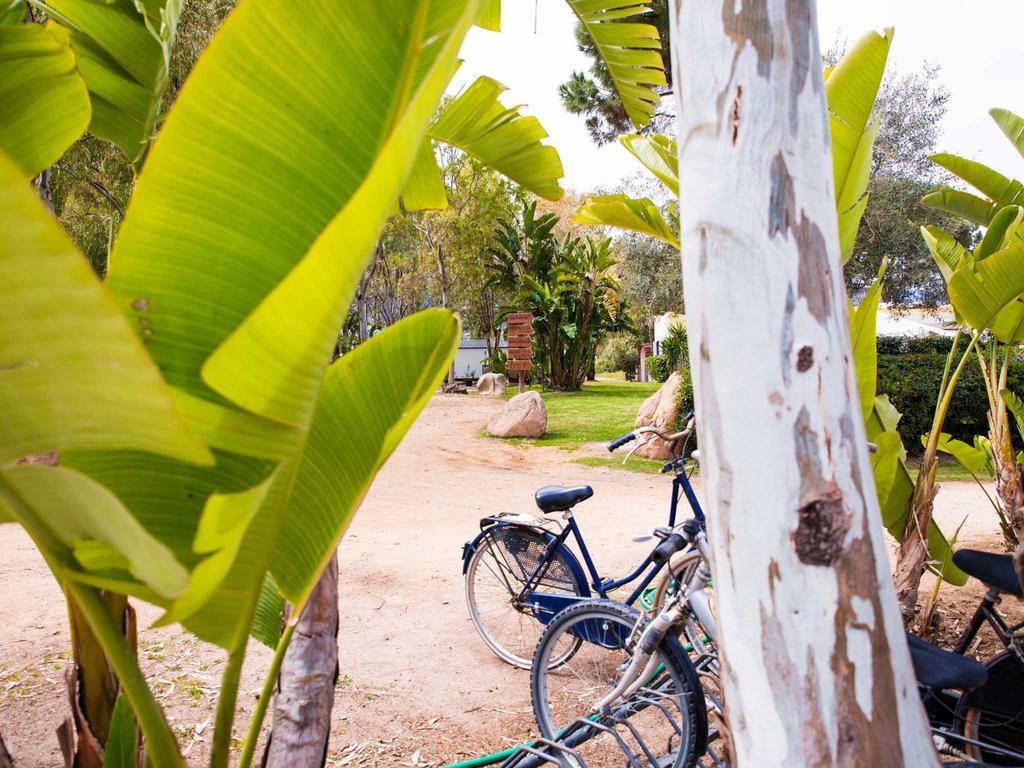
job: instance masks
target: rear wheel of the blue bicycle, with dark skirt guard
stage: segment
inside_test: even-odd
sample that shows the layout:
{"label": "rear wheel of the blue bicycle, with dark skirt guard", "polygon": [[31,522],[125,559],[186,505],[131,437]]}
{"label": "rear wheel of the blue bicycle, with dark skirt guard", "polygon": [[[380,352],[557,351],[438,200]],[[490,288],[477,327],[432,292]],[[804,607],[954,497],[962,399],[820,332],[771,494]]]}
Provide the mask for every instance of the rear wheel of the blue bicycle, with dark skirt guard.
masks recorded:
{"label": "rear wheel of the blue bicycle, with dark skirt guard", "polygon": [[[526,580],[537,570],[548,540],[532,528],[496,525],[480,540],[466,568],[466,604],[476,631],[495,654],[523,670],[532,664],[544,625],[519,599]],[[534,592],[583,595],[568,559],[555,552],[539,572]],[[550,659],[565,662],[579,643]]]}

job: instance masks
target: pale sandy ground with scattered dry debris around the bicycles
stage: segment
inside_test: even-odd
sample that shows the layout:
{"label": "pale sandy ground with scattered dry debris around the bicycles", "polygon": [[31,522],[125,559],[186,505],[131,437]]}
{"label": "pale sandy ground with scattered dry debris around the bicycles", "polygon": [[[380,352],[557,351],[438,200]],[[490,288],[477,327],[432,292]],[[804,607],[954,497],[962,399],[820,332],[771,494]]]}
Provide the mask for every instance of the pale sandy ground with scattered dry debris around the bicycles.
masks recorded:
{"label": "pale sandy ground with scattered dry debris around the bicycles", "polygon": [[[540,485],[590,483],[595,495],[579,519],[599,567],[614,575],[650,546],[632,538],[665,522],[667,478],[586,467],[572,463],[574,453],[479,437],[498,407],[478,397],[434,397],[342,545],[341,679],[329,765],[438,766],[530,735],[527,673],[486,649],[465,607],[460,554],[480,517],[531,511]],[[993,515],[977,486],[946,484],[937,501],[940,523],[955,528],[968,513],[961,546],[996,549]],[[981,591],[969,588],[955,599],[952,593],[943,592],[950,606],[944,634]],[[68,711],[70,658],[63,600],[29,539],[10,525],[0,528],[0,733],[20,768],[60,765],[54,729]],[[223,654],[173,628],[145,629],[156,616],[140,607],[143,667],[191,762],[201,765]],[[236,735],[244,733],[268,657],[261,646],[251,654]]]}

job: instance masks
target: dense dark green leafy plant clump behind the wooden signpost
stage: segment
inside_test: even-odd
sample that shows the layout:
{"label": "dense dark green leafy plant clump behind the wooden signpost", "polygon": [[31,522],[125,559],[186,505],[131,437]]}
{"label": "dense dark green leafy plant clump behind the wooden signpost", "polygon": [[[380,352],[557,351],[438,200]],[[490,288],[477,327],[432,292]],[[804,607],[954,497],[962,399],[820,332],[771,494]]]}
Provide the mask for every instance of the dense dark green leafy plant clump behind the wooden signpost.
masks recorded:
{"label": "dense dark green leafy plant clump behind the wooden signpost", "polygon": [[489,285],[509,297],[503,315],[532,313],[537,361],[547,385],[579,389],[604,336],[633,326],[613,273],[611,241],[559,241],[552,231],[558,217],[536,212],[536,204],[525,204],[521,218],[500,224],[487,250]]}

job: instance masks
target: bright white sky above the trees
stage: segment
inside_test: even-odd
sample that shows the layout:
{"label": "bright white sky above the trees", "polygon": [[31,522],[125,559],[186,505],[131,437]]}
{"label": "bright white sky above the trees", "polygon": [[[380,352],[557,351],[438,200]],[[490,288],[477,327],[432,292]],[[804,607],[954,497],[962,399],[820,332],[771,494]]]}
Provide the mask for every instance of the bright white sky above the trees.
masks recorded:
{"label": "bright white sky above the trees", "polygon": [[[453,90],[479,75],[504,83],[509,87],[504,103],[525,104],[551,134],[549,142],[565,166],[564,186],[578,191],[612,186],[638,166],[617,144],[598,150],[583,119],[562,109],[559,84],[589,61],[577,51],[575,17],[565,2],[535,1],[537,34],[530,0],[505,0],[501,33],[470,32]],[[841,36],[852,44],[869,29],[895,27],[890,68],[909,73],[926,60],[942,66],[939,77],[950,99],[937,150],[1024,177],[1024,159],[988,117],[993,106],[1024,115],[1022,0],[819,0],[818,17],[823,49]]]}

